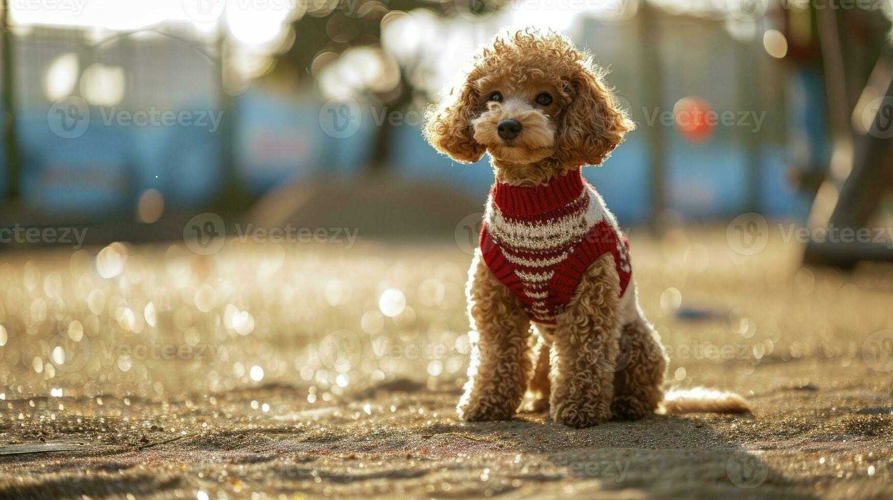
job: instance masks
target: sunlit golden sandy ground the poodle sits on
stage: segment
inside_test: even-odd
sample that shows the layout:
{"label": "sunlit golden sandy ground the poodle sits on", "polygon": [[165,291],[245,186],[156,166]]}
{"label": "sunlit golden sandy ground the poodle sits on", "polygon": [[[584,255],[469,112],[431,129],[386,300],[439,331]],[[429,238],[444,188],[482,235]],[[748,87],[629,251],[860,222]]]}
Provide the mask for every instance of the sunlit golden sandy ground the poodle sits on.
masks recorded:
{"label": "sunlit golden sandy ground the poodle sits on", "polygon": [[580,430],[456,419],[463,241],[7,255],[0,497],[893,497],[893,271],[777,236],[630,238],[672,385],[752,414]]}

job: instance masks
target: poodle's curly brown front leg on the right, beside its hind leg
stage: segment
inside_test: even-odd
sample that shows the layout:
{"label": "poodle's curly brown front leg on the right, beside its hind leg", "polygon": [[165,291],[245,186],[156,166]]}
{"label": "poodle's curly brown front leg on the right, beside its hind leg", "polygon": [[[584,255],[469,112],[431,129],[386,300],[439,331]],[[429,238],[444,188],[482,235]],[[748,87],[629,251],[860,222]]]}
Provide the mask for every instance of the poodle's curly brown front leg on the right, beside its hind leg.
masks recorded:
{"label": "poodle's curly brown front leg on the right, beside its hind leg", "polygon": [[611,419],[620,351],[619,296],[613,256],[605,254],[589,266],[570,304],[558,315],[550,373],[553,420],[582,428]]}

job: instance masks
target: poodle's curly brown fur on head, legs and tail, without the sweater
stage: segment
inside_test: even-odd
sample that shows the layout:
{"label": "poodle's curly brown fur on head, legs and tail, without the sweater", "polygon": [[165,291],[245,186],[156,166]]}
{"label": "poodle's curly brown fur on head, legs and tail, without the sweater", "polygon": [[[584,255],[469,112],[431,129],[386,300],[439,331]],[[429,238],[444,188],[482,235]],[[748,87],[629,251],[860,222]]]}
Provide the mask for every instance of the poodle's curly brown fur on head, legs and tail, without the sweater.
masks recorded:
{"label": "poodle's curly brown fur on head, legs and tail, without the sweater", "polygon": [[[497,35],[430,106],[423,134],[458,162],[477,162],[487,152],[501,182],[543,185],[580,165],[601,164],[634,128],[604,76],[590,54],[553,31]],[[543,93],[550,102],[538,99]],[[520,133],[500,134],[506,119],[518,121]],[[658,404],[667,412],[746,410],[740,396],[697,388],[661,403],[666,354],[630,287],[621,298],[613,257],[603,255],[555,329],[537,326],[534,341],[521,304],[477,253],[467,288],[474,346],[459,415],[509,419],[528,387],[539,397],[534,410],[548,407],[555,421],[572,427],[638,419]]]}

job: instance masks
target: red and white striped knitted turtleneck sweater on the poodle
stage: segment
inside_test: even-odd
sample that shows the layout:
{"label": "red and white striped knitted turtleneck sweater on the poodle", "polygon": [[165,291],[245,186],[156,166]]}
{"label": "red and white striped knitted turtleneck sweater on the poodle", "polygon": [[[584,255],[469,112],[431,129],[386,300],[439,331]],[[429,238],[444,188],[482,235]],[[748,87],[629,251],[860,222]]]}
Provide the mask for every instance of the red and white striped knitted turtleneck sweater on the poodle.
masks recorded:
{"label": "red and white striped knitted turtleneck sweater on the poodle", "polygon": [[494,184],[480,251],[538,323],[555,323],[589,264],[603,254],[613,255],[621,296],[630,283],[629,242],[580,169],[544,186]]}

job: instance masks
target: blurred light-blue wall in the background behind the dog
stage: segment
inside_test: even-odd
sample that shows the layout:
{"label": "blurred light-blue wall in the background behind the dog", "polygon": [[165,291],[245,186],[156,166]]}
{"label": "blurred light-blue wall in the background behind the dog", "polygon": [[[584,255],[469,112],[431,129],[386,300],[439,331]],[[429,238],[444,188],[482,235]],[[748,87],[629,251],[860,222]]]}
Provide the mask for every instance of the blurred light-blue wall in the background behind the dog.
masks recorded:
{"label": "blurred light-blue wall in the background behind the dog", "polygon": [[[183,104],[184,110],[210,103]],[[377,126],[369,106],[355,135],[335,138],[320,126],[315,99],[249,91],[236,100],[236,164],[244,187],[259,195],[282,182],[363,173]],[[199,208],[221,189],[221,131],[188,126],[106,125],[94,111],[88,130],[77,138],[58,137],[46,111],[25,110],[18,121],[24,166],[25,203],[50,214],[76,212],[109,216],[132,212],[138,195],[154,188],[169,206]],[[666,128],[666,193],[669,208],[689,219],[737,214],[746,206],[746,162],[734,137],[688,143]],[[493,174],[488,157],[474,164],[453,162],[434,152],[416,125],[394,129],[392,164],[405,177],[447,182],[478,196],[483,204]],[[630,133],[602,167],[587,177],[623,224],[647,221],[650,213],[651,156],[646,132]],[[783,146],[760,149],[760,209],[776,216],[801,217],[805,200],[789,187]],[[0,172],[4,179],[4,172]],[[111,211],[111,212],[110,212]]]}

